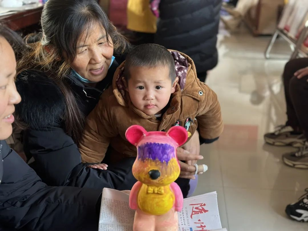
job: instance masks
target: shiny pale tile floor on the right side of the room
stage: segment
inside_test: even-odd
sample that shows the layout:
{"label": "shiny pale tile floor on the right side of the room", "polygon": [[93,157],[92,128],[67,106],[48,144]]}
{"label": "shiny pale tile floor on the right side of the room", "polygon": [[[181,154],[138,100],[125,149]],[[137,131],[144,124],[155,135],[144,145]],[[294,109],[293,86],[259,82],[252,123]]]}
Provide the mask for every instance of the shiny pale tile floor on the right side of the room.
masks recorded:
{"label": "shiny pale tile floor on the right side of the room", "polygon": [[[284,209],[308,187],[308,170],[285,166],[281,156],[293,148],[273,147],[263,134],[285,123],[281,74],[285,60],[265,60],[270,37],[252,37],[242,28],[219,35],[219,63],[206,83],[217,93],[225,129],[201,146],[202,163],[195,195],[217,191],[222,226],[228,231],[304,231],[307,223],[288,219]],[[289,54],[283,41],[274,53]]]}

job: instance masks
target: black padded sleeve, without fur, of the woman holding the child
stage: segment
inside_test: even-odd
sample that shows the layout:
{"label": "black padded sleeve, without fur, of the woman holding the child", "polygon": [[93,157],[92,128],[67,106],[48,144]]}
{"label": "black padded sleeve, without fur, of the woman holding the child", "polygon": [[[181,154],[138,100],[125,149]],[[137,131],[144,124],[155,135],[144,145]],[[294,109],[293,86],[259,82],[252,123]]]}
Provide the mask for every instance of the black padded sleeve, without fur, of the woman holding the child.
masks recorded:
{"label": "black padded sleeve, without fur, of the woman holding the child", "polygon": [[110,164],[107,170],[87,168],[77,145],[62,128],[26,131],[24,142],[35,159],[35,171],[48,185],[130,190],[136,182],[132,175],[135,158]]}

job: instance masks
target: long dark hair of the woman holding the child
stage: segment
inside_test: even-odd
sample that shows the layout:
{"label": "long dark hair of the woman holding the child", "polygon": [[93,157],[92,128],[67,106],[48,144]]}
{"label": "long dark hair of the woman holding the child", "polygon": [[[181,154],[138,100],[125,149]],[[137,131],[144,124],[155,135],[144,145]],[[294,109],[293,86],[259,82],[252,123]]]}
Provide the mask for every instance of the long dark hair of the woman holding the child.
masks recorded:
{"label": "long dark hair of the woman holding the child", "polygon": [[[83,34],[86,34],[86,40],[93,25],[99,23],[105,30],[107,43],[113,43],[116,53],[123,53],[128,42],[117,32],[95,0],[48,0],[41,19],[41,39],[37,43],[28,44],[29,50],[18,62],[17,72],[40,69],[51,74],[66,101],[66,132],[78,143],[83,132],[84,115],[79,110],[71,88],[63,81],[63,77],[71,71],[70,63],[76,58],[77,41]],[[66,59],[57,59],[63,57],[63,53]]]}

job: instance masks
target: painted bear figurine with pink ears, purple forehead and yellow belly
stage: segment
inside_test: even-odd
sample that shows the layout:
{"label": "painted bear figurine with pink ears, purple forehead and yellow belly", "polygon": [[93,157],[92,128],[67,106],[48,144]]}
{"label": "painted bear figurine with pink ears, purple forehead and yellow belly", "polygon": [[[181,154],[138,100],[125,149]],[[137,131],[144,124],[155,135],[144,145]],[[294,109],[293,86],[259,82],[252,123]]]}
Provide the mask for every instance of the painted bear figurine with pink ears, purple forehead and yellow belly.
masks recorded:
{"label": "painted bear figurine with pink ears, purple forehead and yellow belly", "polygon": [[129,197],[130,208],[136,210],[133,230],[178,230],[183,195],[174,182],[180,175],[176,148],[186,142],[186,129],[174,126],[168,132],[147,132],[133,125],[125,135],[137,147],[132,173],[138,181]]}

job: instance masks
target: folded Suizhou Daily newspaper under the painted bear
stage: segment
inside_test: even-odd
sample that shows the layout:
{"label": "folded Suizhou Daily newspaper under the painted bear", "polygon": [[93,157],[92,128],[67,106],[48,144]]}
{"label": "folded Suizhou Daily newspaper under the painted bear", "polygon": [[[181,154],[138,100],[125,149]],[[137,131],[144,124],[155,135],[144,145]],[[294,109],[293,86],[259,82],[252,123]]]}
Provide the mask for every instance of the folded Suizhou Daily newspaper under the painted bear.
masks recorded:
{"label": "folded Suizhou Daily newspaper under the painted bear", "polygon": [[[132,231],[135,211],[129,208],[127,192],[104,188],[99,215],[99,231]],[[217,193],[184,199],[178,212],[179,231],[227,231],[221,228]]]}

